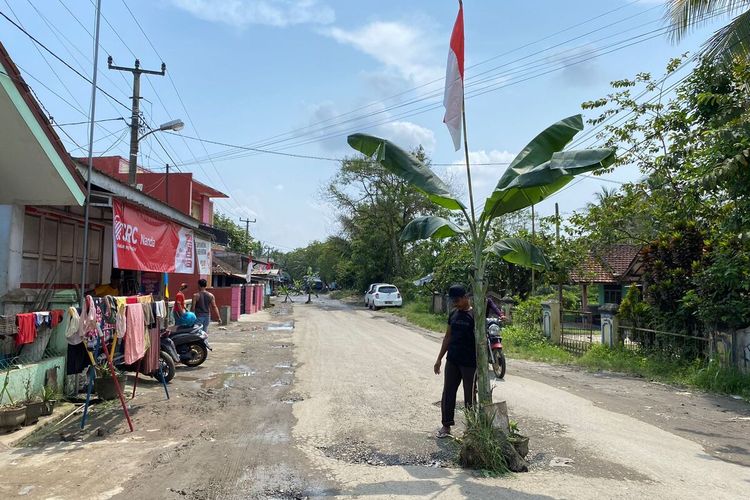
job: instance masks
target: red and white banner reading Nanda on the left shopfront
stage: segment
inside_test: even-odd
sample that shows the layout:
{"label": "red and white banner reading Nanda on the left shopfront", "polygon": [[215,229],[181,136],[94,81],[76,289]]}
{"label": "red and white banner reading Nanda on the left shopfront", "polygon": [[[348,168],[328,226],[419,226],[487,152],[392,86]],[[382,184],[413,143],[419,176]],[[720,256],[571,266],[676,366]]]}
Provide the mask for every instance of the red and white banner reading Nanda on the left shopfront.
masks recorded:
{"label": "red and white banner reading Nanda on the left shopfront", "polygon": [[112,201],[113,266],[118,269],[192,274],[193,230]]}

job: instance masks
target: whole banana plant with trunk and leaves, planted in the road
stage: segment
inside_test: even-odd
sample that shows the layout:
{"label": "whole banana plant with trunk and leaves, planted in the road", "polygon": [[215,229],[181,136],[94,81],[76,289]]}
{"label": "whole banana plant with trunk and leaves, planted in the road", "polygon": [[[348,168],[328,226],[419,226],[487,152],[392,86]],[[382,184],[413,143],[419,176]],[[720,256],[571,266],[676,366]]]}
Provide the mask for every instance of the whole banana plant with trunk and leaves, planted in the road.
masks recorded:
{"label": "whole banana plant with trunk and leaves, planted in the road", "polygon": [[510,263],[538,270],[549,266],[541,249],[519,238],[506,238],[487,246],[492,221],[501,215],[539,203],[562,189],[576,175],[606,168],[614,162],[615,151],[609,148],[563,151],[582,130],[581,115],[574,115],[560,120],[537,135],[500,177],[478,218],[474,216],[473,206],[469,211],[450,193],[445,182],[414,155],[386,139],[372,135],[353,134],[348,137],[352,148],[379,162],[383,168],[424,193],[433,203],[457,212],[455,220],[459,220],[458,223],[437,216],[418,217],[406,225],[401,233],[401,240],[410,242],[455,237],[463,239],[472,250],[474,266],[471,287],[474,295],[474,340],[480,404],[492,402],[484,330],[487,307],[484,274],[487,258],[490,254],[495,254]]}

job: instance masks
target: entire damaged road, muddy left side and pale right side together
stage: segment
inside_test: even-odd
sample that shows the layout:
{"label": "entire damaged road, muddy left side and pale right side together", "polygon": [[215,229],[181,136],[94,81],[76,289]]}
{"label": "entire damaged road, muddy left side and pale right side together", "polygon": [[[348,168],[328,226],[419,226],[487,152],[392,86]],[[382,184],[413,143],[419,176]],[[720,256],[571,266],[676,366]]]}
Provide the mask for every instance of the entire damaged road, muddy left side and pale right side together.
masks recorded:
{"label": "entire damaged road, muddy left side and pale right side together", "polygon": [[109,402],[83,433],[78,417],[0,449],[0,498],[746,496],[746,403],[516,360],[493,394],[531,438],[530,472],[461,470],[456,443],[434,438],[439,336],[387,312],[303,302],[212,325],[214,351],[178,368],[169,401],[139,382],[134,433]]}

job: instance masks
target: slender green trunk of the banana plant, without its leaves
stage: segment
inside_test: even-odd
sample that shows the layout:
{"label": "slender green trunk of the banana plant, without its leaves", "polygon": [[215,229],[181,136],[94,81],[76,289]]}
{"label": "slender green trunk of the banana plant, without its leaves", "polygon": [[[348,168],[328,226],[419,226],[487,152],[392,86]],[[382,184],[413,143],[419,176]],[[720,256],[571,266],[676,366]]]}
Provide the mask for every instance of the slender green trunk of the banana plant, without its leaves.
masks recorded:
{"label": "slender green trunk of the banana plant, without its leaves", "polygon": [[471,280],[474,295],[474,345],[477,352],[477,393],[482,406],[492,403],[489,368],[487,359],[487,337],[485,317],[487,315],[487,285],[484,282],[486,260],[482,255],[482,245],[474,248],[474,276]]}

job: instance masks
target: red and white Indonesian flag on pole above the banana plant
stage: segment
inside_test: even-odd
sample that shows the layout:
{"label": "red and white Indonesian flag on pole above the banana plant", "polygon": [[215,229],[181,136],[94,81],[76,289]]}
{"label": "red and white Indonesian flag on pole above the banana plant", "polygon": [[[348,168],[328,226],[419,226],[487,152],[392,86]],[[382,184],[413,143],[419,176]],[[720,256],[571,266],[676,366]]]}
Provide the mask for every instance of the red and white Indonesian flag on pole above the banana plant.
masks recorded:
{"label": "red and white Indonesian flag on pole above the banana plant", "polygon": [[456,151],[461,149],[461,114],[464,107],[464,6],[458,2],[458,17],[453,25],[448,67],[445,69],[445,116],[443,123],[453,138]]}

